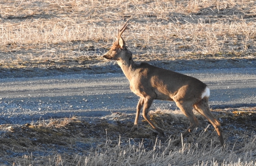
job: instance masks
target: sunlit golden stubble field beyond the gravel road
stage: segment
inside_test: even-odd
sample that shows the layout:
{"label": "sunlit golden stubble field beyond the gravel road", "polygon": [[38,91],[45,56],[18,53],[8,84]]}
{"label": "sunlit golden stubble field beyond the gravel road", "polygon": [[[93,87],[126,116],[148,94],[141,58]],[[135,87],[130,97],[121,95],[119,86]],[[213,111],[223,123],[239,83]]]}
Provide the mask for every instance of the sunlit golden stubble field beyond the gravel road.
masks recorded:
{"label": "sunlit golden stubble field beyond the gravel road", "polygon": [[0,65],[5,67],[99,57],[127,18],[133,21],[132,30],[124,37],[134,54],[151,59],[195,54],[255,57],[253,0],[2,0],[0,4]]}

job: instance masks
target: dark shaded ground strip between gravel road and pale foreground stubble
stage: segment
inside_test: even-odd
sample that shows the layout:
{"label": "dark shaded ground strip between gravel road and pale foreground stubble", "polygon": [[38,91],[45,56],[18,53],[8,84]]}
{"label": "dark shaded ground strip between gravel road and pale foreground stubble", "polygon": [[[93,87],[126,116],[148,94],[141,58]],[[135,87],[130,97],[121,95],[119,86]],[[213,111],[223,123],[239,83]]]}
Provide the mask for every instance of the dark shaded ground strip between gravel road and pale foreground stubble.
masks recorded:
{"label": "dark shaded ground strip between gravel road and pale foreground stubble", "polygon": [[[212,110],[212,113],[221,119],[225,143],[229,150],[230,148],[242,149],[246,144],[244,140],[255,135],[255,107],[215,109]],[[197,143],[198,148],[202,148],[208,143],[210,145],[207,147],[219,146],[214,128],[201,115],[197,114],[197,117],[200,125],[191,135],[184,138],[183,143]],[[63,160],[68,156],[72,159],[74,155],[93,155],[94,149],[101,153],[109,148],[138,146],[140,143],[143,143],[144,149],[150,151],[155,148],[155,144],[159,144],[159,141],[162,146],[168,144],[189,126],[186,117],[177,111],[159,109],[151,112],[150,118],[165,130],[166,136],[154,132],[149,124],[142,119],[138,130],[130,132],[134,114],[119,112],[97,120],[71,117],[38,121],[20,126],[1,125],[0,141],[3,149],[1,164],[12,163],[15,157],[16,162],[20,161],[21,165],[26,162],[32,162],[33,165],[40,165],[40,163],[44,165],[47,162],[42,160],[47,160],[55,154],[61,155]],[[27,160],[24,159],[25,154],[29,156]]]}

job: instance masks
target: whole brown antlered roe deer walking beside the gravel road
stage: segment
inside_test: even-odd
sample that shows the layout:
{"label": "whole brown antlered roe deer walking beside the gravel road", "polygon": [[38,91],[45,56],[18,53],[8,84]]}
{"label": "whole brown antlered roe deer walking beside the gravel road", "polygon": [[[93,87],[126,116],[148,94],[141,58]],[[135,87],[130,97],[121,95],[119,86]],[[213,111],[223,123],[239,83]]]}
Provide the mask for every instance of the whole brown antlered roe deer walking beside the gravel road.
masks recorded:
{"label": "whole brown antlered roe deer walking beside the gravel road", "polygon": [[[125,41],[121,37],[125,29],[129,29],[127,26],[128,23],[126,21],[125,25],[120,30],[118,29],[116,42],[113,43],[111,49],[103,57],[117,61],[130,82],[131,91],[140,97],[134,126],[131,131],[133,132],[138,127],[140,109],[143,106],[142,114],[145,120],[157,132],[164,135],[163,129],[157,127],[150,120],[148,111],[154,99],[169,100],[175,101],[177,107],[190,121],[190,126],[183,132],[182,137],[188,135],[198,125],[198,120],[192,111],[194,108],[212,123],[218,133],[221,146],[223,146],[224,139],[221,124],[209,110],[208,99],[210,91],[208,86],[194,77],[151,66],[148,63],[135,63],[132,59],[132,53],[126,48]],[[179,143],[182,137],[175,140],[174,143]]]}

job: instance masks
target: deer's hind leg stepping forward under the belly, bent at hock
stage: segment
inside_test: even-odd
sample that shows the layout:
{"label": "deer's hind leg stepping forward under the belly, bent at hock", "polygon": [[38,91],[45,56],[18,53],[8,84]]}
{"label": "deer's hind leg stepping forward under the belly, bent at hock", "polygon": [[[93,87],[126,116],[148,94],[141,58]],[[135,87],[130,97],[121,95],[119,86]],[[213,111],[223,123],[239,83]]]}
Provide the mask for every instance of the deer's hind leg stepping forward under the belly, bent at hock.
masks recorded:
{"label": "deer's hind leg stepping forward under the belly, bent at hock", "polygon": [[198,126],[198,119],[195,117],[195,114],[193,113],[193,107],[190,102],[176,102],[177,107],[180,108],[180,110],[185,114],[185,116],[189,119],[190,126],[189,128],[182,133],[182,137],[179,137],[177,140],[174,140],[174,144],[180,143],[181,139],[186,137],[190,132],[192,132],[196,126]]}

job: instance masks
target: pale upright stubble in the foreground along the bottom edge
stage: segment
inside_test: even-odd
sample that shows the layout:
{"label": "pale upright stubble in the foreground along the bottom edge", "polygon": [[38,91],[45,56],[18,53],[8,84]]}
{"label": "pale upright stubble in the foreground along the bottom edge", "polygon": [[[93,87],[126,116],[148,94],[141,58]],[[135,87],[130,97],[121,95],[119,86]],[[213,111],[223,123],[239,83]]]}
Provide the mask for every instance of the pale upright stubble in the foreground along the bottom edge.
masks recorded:
{"label": "pale upright stubble in the foreground along the bottom edge", "polygon": [[[207,136],[209,135],[200,137],[200,142]],[[163,146],[156,140],[151,150],[145,149],[143,143],[137,146],[128,144],[125,147],[114,148],[105,146],[102,148],[105,151],[103,153],[96,151],[95,154],[87,157],[74,156],[73,161],[82,166],[255,166],[255,157],[252,156],[256,152],[251,147],[255,147],[256,137],[250,137],[246,141],[248,143],[236,152],[233,149],[222,151],[219,147],[208,149],[207,146],[198,149],[198,143],[194,145],[184,143],[179,148],[171,148],[170,143]],[[59,158],[57,164],[67,162],[60,156],[57,157]]]}

